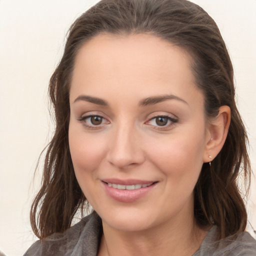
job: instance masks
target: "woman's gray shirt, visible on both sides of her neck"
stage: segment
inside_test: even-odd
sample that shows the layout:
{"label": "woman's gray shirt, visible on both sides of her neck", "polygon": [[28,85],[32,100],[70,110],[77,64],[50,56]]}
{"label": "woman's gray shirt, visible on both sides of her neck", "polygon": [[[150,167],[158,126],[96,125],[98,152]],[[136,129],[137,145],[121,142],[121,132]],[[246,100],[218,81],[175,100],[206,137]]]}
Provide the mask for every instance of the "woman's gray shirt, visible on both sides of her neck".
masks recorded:
{"label": "woman's gray shirt, visible on both sides of her neck", "polygon": [[[235,240],[216,242],[218,228],[212,226],[192,256],[256,256],[256,240],[243,232]],[[53,234],[31,245],[23,256],[96,256],[102,235],[96,212],[82,218],[63,234]]]}

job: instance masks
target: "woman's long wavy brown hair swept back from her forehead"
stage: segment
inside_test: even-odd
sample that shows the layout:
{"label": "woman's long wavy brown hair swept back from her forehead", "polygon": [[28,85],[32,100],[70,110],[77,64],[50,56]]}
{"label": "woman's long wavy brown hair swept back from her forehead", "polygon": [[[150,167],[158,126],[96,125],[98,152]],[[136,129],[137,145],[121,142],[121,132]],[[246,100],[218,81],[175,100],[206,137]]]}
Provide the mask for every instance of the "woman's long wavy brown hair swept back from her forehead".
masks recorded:
{"label": "woman's long wavy brown hair swept back from her forehead", "polygon": [[212,118],[221,105],[230,107],[224,146],[211,166],[203,164],[194,188],[194,216],[201,226],[217,225],[221,238],[243,231],[247,214],[237,179],[242,175],[248,181],[248,191],[247,136],[235,105],[232,64],[217,25],[201,7],[186,0],[102,0],[71,25],[49,82],[56,126],[46,148],[41,188],[31,207],[34,233],[43,238],[65,231],[86,203],[68,147],[69,86],[78,49],[99,33],[148,33],[182,47],[191,56],[196,84],[204,94],[205,115]]}

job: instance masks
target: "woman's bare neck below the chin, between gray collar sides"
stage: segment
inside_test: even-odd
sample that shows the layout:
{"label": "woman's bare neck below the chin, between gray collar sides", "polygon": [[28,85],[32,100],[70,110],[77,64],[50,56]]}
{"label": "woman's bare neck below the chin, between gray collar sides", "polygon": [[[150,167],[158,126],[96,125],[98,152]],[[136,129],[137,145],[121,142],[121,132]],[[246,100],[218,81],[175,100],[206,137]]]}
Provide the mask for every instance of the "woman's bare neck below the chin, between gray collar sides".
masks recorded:
{"label": "woman's bare neck below the chin, between gray collar sides", "polygon": [[193,215],[141,231],[127,232],[116,230],[103,221],[102,224],[98,256],[188,256],[199,248],[207,233],[196,225]]}

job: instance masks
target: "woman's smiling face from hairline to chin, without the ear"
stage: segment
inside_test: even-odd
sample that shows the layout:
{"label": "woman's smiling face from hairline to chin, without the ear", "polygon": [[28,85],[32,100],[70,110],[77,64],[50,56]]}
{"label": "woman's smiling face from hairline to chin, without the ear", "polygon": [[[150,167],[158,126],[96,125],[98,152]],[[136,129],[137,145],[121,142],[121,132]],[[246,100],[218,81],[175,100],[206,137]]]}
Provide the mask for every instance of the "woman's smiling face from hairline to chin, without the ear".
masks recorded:
{"label": "woman's smiling face from hairline to chin, without the ear", "polygon": [[188,55],[158,37],[97,35],[78,51],[69,146],[102,221],[144,230],[193,216],[210,133]]}

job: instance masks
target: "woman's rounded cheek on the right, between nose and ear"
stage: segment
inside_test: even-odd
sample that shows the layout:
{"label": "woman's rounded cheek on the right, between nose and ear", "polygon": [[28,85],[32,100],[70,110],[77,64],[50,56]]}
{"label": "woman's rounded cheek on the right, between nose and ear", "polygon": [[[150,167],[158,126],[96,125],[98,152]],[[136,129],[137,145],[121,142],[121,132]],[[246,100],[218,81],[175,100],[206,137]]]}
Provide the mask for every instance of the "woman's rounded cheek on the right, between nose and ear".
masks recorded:
{"label": "woman's rounded cheek on the right, between nose and ear", "polygon": [[[203,132],[203,131],[201,131]],[[169,176],[184,179],[197,178],[203,163],[204,139],[200,132],[171,135],[162,141],[152,141],[150,158]],[[188,135],[187,135],[188,134]],[[176,181],[176,180],[175,180]]]}

